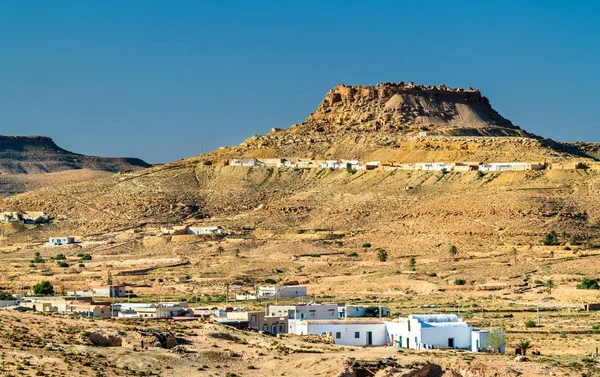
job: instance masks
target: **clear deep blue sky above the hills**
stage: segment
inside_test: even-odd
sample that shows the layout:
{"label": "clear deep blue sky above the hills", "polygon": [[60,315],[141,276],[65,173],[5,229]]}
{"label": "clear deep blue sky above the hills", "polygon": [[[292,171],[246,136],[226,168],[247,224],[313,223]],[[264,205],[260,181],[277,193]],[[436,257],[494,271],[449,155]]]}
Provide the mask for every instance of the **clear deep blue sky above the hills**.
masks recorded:
{"label": "clear deep blue sky above the hills", "polygon": [[600,141],[599,3],[0,0],[0,134],[168,162],[301,122],[339,83],[414,81]]}

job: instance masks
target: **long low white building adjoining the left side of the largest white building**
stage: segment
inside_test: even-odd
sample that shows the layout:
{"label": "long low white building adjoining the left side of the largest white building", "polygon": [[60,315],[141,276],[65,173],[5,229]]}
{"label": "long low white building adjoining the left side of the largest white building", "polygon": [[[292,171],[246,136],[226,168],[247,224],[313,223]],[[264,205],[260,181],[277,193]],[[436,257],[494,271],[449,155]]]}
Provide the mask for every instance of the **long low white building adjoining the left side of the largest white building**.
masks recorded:
{"label": "long low white building adjoining the left side of the largest white building", "polygon": [[344,346],[383,346],[386,344],[385,324],[380,321],[301,320],[296,323],[296,335],[330,335],[335,344]]}

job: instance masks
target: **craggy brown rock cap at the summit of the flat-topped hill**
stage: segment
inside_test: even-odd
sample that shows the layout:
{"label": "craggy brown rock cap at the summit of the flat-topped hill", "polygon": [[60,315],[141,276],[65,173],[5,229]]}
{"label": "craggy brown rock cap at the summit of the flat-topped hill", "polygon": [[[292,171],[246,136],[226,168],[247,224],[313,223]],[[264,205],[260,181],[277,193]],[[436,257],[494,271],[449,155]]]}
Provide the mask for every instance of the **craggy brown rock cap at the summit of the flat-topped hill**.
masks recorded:
{"label": "craggy brown rock cap at the summit of the flat-topped hill", "polygon": [[327,93],[305,125],[317,132],[530,136],[498,114],[476,89],[412,83],[338,85]]}

